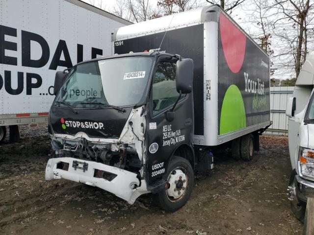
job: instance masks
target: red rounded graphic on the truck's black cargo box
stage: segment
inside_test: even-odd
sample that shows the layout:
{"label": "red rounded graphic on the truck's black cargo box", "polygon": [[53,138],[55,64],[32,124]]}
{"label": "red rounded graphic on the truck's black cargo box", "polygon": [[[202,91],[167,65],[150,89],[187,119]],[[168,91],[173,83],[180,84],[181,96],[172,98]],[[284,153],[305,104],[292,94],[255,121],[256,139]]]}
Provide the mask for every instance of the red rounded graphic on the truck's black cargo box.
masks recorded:
{"label": "red rounded graphic on the truck's black cargo box", "polygon": [[244,56],[246,36],[224,14],[220,13],[220,36],[228,67],[234,73],[240,71]]}

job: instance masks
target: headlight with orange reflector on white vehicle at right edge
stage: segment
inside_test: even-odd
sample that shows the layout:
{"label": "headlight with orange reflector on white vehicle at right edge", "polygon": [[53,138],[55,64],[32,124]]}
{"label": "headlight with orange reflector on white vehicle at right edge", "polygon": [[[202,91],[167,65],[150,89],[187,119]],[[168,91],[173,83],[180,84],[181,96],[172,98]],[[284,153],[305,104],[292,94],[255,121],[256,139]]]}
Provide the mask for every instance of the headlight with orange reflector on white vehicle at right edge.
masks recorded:
{"label": "headlight with orange reflector on white vehicle at right edge", "polygon": [[314,180],[314,149],[300,147],[298,155],[300,176]]}

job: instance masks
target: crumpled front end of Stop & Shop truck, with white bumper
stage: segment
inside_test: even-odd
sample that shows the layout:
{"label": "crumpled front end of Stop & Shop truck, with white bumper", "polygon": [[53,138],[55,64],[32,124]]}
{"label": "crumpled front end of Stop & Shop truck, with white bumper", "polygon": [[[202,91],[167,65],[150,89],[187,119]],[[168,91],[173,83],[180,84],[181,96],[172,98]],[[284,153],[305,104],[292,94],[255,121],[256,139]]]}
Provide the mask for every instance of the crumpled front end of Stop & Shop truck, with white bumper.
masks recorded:
{"label": "crumpled front end of Stop & Shop truck, with white bumper", "polygon": [[145,181],[145,108],[133,109],[117,139],[52,134],[54,158],[46,180],[67,179],[102,188],[133,204],[148,193]]}

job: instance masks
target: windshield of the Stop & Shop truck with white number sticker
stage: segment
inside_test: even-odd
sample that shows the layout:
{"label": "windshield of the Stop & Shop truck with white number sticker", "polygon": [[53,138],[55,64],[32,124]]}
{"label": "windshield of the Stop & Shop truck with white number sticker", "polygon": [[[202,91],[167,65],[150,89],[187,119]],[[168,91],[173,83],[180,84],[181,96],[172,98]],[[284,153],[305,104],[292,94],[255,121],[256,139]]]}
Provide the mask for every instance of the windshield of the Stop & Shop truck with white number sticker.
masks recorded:
{"label": "windshield of the Stop & Shop truck with white number sticker", "polygon": [[152,57],[124,57],[77,65],[61,87],[55,104],[74,108],[108,108],[137,104],[146,90]]}

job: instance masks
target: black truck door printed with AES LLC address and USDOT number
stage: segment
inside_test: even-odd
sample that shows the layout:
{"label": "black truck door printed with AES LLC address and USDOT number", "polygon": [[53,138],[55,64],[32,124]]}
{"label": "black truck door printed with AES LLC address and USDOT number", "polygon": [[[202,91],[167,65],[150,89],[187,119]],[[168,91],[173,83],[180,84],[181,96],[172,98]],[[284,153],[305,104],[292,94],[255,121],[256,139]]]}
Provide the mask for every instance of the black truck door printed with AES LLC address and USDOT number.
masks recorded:
{"label": "black truck door printed with AES LLC address and USDOT number", "polygon": [[[148,183],[160,179],[174,151],[181,144],[191,144],[193,132],[193,96],[182,94],[169,122],[166,113],[179,97],[176,90],[176,63],[168,60],[158,62],[153,76],[147,118],[147,167]],[[164,177],[167,179],[167,176]]]}

